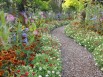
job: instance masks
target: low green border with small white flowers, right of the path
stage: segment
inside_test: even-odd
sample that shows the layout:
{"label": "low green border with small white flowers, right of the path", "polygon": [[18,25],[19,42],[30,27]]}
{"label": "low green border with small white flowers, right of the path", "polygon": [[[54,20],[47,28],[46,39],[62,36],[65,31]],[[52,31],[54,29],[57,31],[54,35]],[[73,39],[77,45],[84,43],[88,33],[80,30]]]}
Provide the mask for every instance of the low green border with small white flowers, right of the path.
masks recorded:
{"label": "low green border with small white flowers, right of the path", "polygon": [[103,70],[103,36],[84,28],[76,27],[71,24],[66,26],[65,34],[73,38],[82,46],[85,46],[94,55],[96,65]]}

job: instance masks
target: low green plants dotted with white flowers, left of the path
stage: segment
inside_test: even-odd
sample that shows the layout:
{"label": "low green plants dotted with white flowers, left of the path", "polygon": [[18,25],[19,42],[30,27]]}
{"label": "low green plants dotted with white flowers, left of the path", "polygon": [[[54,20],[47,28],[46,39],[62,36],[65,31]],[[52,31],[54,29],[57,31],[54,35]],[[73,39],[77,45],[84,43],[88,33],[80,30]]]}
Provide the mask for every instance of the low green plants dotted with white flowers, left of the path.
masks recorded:
{"label": "low green plants dotted with white flowers, left of the path", "polygon": [[[60,77],[61,58],[59,44],[49,35],[43,35],[40,39],[42,46],[39,53],[35,55],[31,64],[18,66],[17,77]],[[52,42],[54,41],[54,42]],[[54,48],[57,47],[57,48]]]}

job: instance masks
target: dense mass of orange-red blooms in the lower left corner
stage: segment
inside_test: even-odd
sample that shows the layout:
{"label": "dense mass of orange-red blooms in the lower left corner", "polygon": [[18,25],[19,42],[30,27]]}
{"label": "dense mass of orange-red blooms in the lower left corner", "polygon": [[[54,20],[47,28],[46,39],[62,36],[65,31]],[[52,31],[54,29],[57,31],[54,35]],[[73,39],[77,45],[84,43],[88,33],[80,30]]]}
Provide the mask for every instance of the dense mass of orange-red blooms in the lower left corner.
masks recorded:
{"label": "dense mass of orange-red blooms in the lower left corner", "polygon": [[[0,52],[0,76],[4,74],[4,71],[9,67],[15,67],[17,65],[24,65],[23,60],[18,59],[18,55],[15,50],[2,50]],[[10,72],[10,71],[9,71]]]}

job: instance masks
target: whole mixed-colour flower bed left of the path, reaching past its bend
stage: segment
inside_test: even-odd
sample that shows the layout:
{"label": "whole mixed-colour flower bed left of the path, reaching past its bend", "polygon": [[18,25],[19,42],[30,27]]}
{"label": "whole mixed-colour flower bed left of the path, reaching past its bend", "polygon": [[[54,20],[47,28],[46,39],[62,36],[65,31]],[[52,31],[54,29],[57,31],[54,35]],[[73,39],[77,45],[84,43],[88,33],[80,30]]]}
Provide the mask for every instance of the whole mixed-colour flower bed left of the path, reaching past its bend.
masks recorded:
{"label": "whole mixed-colour flower bed left of the path, reaching past its bend", "polygon": [[[2,77],[61,77],[61,52],[58,40],[48,33],[68,21],[1,25],[8,29],[6,37],[0,30],[0,76]],[[12,27],[12,28],[11,28]],[[8,37],[10,42],[8,42]],[[5,39],[4,39],[5,38]],[[8,42],[8,43],[6,43]]]}

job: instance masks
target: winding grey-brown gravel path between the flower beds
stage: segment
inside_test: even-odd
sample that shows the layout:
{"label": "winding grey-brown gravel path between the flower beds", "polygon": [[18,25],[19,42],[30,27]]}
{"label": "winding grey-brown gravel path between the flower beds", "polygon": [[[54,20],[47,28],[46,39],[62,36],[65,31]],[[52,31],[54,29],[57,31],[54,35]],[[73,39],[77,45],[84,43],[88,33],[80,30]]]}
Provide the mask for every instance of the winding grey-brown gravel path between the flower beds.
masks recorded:
{"label": "winding grey-brown gravel path between the flower beds", "polygon": [[53,30],[51,34],[62,44],[62,77],[103,77],[92,55],[73,39],[66,37],[64,27]]}

